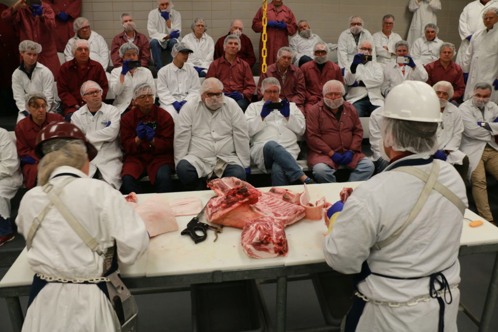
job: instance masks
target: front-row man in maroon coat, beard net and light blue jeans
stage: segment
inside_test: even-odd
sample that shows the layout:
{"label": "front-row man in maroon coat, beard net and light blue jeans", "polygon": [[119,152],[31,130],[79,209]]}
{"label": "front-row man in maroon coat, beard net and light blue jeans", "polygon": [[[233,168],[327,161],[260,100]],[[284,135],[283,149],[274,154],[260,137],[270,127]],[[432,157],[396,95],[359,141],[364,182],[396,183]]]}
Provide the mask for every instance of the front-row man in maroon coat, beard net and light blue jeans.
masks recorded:
{"label": "front-row man in maroon coat, beard net and light blue jeans", "polygon": [[363,128],[358,112],[345,102],[344,85],[336,80],[323,86],[323,100],[307,113],[308,166],[318,183],[337,182],[340,165],[351,169],[348,181],[366,181],[373,163],[362,153]]}

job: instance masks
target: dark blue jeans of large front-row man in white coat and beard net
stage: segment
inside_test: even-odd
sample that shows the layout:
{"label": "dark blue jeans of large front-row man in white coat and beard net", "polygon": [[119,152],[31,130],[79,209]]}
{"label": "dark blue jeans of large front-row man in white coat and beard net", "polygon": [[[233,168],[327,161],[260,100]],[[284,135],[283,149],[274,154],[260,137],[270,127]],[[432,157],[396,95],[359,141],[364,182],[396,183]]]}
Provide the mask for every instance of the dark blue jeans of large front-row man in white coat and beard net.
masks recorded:
{"label": "dark blue jeans of large front-row man in white coat and beard net", "polygon": [[[180,179],[187,191],[206,190],[206,181],[217,178],[216,175],[210,179],[207,177],[199,178],[195,166],[185,159],[180,160],[178,165],[176,165],[176,175],[178,175],[178,179]],[[223,171],[222,178],[228,176],[235,176],[236,178],[246,181],[246,170],[239,165],[227,165],[225,171]]]}

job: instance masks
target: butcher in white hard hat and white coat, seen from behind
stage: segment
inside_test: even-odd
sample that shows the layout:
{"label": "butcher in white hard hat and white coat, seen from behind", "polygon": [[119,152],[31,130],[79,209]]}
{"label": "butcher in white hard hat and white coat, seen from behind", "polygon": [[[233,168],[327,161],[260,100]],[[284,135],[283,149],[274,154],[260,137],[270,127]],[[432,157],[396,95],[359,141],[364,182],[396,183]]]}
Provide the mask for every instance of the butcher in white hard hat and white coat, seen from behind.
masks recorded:
{"label": "butcher in white hard hat and white coat, seen from behind", "polygon": [[[457,331],[458,251],[468,204],[458,172],[431,157],[439,109],[429,85],[395,87],[382,111],[382,154],[390,164],[358,186],[344,209],[338,202],[329,211],[339,214],[329,224],[325,259],[335,271],[357,274],[344,331],[435,332],[443,323],[445,332]],[[449,193],[440,194],[433,180]]]}

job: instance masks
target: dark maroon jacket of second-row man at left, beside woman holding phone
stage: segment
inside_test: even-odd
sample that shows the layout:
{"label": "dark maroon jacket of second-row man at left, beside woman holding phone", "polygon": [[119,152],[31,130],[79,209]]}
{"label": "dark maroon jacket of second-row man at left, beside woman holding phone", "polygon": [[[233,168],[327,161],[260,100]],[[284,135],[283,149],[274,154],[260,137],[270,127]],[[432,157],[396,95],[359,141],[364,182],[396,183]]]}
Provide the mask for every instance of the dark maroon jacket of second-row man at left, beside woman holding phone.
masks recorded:
{"label": "dark maroon jacket of second-row man at left, beside woman holding phone", "polygon": [[83,106],[85,102],[81,98],[81,85],[91,80],[99,83],[104,93],[104,100],[109,90],[106,72],[102,65],[94,60],[89,60],[87,67],[79,69],[76,65],[76,59],[69,60],[62,64],[59,76],[57,77],[57,93],[62,102],[64,114],[76,111],[73,105]]}

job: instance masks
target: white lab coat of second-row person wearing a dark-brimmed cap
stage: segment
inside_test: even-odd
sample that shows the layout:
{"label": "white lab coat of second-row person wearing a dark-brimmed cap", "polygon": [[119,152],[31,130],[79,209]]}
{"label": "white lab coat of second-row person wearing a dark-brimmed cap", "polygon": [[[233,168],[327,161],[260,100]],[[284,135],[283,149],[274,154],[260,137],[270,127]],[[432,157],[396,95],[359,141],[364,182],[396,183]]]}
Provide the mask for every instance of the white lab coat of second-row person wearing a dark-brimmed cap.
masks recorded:
{"label": "white lab coat of second-row person wearing a dark-brimmed cap", "polygon": [[170,63],[157,72],[157,97],[160,107],[171,114],[173,121],[178,115],[173,103],[188,102],[199,97],[200,88],[199,74],[192,66],[183,65],[178,68],[174,63]]}

